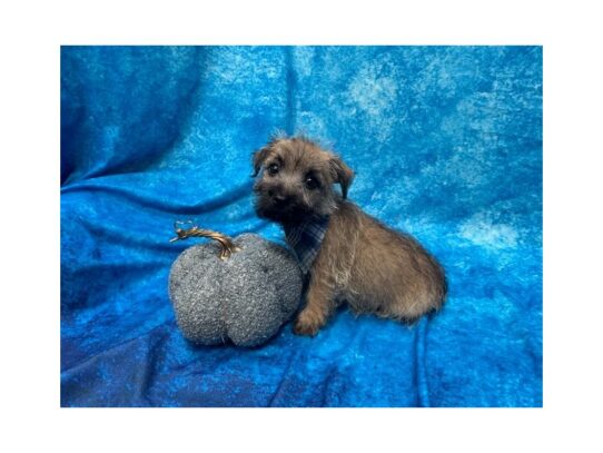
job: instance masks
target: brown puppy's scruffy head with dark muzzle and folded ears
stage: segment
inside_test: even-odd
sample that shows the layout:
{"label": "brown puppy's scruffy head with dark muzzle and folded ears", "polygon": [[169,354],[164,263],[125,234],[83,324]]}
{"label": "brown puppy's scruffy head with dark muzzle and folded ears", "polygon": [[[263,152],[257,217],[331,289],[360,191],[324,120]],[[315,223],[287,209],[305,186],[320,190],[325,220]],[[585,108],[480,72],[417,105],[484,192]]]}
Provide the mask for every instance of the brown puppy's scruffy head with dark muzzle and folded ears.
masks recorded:
{"label": "brown puppy's scruffy head with dark muzzle and folded ears", "polygon": [[[281,224],[329,215],[346,198],[354,171],[304,137],[278,138],[254,154],[256,211]],[[342,195],[333,185],[342,186]]]}

